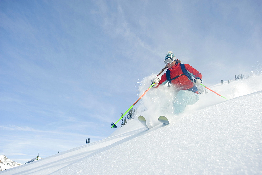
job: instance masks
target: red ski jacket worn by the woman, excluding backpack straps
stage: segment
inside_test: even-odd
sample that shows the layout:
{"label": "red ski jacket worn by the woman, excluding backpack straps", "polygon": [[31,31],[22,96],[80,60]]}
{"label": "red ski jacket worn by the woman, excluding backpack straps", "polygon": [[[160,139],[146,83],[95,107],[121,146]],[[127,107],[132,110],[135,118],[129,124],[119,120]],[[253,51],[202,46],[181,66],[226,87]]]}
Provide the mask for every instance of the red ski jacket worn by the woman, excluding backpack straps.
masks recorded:
{"label": "red ski jacket worn by the woman, excluding backpack straps", "polygon": [[[202,74],[200,74],[199,71],[197,71],[196,69],[192,68],[192,66],[190,66],[189,64],[185,64],[185,69],[195,79],[196,78],[202,79]],[[177,65],[174,65],[169,70],[170,70],[170,77],[171,77],[171,79],[176,77],[176,76],[178,76],[178,75],[183,74],[183,71],[182,71],[182,69],[180,67],[180,63],[178,63]],[[161,80],[159,81],[158,86],[161,85],[162,83],[164,83],[164,84],[167,83],[166,73],[161,76]],[[182,75],[182,76],[179,76],[178,78],[176,78],[174,80],[171,80],[171,84],[178,91],[180,91],[180,90],[188,90],[188,89],[190,89],[190,88],[192,88],[194,86],[194,83],[191,82],[191,80],[189,80],[186,75]],[[156,88],[158,86],[156,86]],[[196,91],[195,93],[199,94],[198,91]]]}

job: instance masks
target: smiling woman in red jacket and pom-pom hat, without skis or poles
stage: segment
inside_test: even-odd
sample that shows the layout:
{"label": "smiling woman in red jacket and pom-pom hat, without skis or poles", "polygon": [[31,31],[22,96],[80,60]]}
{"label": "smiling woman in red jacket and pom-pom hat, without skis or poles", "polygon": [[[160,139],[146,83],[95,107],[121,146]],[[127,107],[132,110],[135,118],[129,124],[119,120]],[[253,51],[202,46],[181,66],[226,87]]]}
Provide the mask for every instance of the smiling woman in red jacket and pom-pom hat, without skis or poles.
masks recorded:
{"label": "smiling woman in red jacket and pom-pom hat, without skis or poles", "polygon": [[[169,84],[173,86],[177,92],[173,104],[174,114],[179,115],[184,112],[187,105],[193,105],[198,101],[199,93],[196,85],[202,83],[202,74],[189,64],[181,64],[181,61],[176,59],[171,51],[166,54],[164,63],[166,64],[165,68],[152,80],[152,83],[155,83],[153,87],[157,88],[166,83],[168,83],[168,87]],[[166,73],[161,76],[161,79],[158,78],[165,69],[167,69]],[[195,79],[193,80],[191,76]]]}

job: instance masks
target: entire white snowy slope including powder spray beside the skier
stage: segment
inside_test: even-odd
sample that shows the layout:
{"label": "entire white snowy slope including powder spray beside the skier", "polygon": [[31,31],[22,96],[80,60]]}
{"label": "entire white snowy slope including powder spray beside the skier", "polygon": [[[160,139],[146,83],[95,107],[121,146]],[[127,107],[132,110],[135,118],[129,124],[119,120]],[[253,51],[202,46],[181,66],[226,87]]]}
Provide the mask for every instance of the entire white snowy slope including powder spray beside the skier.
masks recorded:
{"label": "entire white snowy slope including powder spray beside the skier", "polygon": [[[260,80],[210,87],[232,99],[209,91],[182,117],[169,113],[171,124],[166,126],[156,122],[161,110],[152,109],[162,109],[156,94],[163,98],[169,92],[154,89],[138,107],[147,109],[141,114],[152,129],[133,119],[106,139],[0,174],[262,174]],[[146,87],[142,83],[140,91]]]}

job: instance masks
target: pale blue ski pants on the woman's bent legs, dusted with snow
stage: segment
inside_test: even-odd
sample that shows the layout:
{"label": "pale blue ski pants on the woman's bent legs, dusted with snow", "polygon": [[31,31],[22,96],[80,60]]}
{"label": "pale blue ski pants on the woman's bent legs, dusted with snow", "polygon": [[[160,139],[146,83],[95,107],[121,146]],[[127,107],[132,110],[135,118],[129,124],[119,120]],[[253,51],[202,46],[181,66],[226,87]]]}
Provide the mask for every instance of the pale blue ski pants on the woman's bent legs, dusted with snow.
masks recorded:
{"label": "pale blue ski pants on the woman's bent legs, dusted with snow", "polygon": [[193,105],[199,100],[198,94],[188,90],[178,92],[174,100],[174,114],[179,115],[185,111],[187,105]]}

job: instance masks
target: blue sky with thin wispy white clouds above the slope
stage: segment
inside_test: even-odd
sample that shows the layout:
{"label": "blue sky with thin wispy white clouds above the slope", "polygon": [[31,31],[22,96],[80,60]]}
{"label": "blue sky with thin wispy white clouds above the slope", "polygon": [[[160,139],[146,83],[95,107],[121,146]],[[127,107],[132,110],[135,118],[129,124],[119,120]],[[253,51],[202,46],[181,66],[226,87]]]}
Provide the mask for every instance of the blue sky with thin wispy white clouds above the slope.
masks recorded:
{"label": "blue sky with thin wispy white clouds above the slope", "polygon": [[262,55],[261,1],[0,1],[0,154],[25,163],[109,136],[171,50],[206,86]]}

